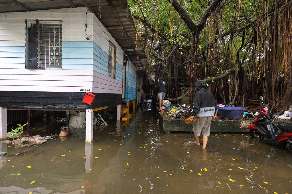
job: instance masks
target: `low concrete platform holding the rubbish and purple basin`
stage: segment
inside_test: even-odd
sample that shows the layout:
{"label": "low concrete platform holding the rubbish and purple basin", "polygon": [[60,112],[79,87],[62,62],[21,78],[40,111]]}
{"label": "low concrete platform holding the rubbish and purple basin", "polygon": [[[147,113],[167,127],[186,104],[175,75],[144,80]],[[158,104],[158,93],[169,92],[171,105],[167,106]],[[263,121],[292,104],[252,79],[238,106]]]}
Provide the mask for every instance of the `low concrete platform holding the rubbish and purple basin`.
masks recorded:
{"label": "low concrete platform holding the rubbish and purple basin", "polygon": [[[166,112],[159,112],[156,108],[159,125],[166,133],[171,131],[192,131],[193,124],[185,124],[185,119],[169,118]],[[211,122],[211,132],[248,132],[247,127],[252,120],[226,120],[218,119]]]}

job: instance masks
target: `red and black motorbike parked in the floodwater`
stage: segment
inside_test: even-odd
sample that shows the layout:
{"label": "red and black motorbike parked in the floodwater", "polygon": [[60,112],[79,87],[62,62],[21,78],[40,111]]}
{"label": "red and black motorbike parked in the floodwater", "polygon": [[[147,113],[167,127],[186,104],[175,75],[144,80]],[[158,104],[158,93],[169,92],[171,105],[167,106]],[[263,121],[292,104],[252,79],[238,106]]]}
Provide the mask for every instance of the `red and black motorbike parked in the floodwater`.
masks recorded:
{"label": "red and black motorbike parked in the floodwater", "polygon": [[270,103],[265,105],[262,96],[260,96],[260,100],[264,107],[253,120],[253,123],[248,126],[250,136],[262,137],[269,144],[282,148],[286,147],[292,151],[292,123],[279,122],[275,125],[269,109]]}

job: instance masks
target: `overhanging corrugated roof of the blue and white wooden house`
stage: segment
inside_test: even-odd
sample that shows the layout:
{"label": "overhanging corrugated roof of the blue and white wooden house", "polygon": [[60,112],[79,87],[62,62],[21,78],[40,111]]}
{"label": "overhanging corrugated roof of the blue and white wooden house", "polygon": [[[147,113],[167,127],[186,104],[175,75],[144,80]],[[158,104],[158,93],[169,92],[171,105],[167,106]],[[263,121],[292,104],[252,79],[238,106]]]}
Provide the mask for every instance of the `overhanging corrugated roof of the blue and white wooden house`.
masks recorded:
{"label": "overhanging corrugated roof of the blue and white wooden house", "polygon": [[84,7],[101,20],[135,67],[149,65],[127,0],[0,0],[0,13]]}

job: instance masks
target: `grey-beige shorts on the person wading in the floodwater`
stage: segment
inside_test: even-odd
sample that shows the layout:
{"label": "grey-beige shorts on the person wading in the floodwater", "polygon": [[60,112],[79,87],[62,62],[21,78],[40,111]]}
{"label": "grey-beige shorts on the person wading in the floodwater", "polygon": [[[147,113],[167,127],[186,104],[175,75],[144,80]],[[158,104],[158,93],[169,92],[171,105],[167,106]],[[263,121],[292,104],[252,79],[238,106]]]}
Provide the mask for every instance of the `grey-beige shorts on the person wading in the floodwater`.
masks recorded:
{"label": "grey-beige shorts on the person wading in the floodwater", "polygon": [[200,119],[198,118],[193,123],[193,132],[197,136],[200,136],[201,134],[204,136],[209,136],[210,135],[211,120],[212,120],[212,117],[201,117]]}

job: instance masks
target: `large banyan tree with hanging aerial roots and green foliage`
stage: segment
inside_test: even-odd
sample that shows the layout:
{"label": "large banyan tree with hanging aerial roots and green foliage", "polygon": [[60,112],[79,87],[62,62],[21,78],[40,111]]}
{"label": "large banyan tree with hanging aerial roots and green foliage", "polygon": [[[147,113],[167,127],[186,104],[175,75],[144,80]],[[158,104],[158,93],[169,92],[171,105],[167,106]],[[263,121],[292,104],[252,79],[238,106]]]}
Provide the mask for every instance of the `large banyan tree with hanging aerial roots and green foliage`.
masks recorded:
{"label": "large banyan tree with hanging aerial roots and green foliage", "polygon": [[[248,99],[284,111],[292,95],[292,0],[128,0],[137,38],[150,61],[144,69],[168,83],[177,100],[208,83],[216,101]],[[189,90],[179,96],[178,84]],[[155,91],[154,91],[155,96]]]}

